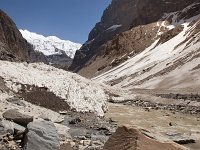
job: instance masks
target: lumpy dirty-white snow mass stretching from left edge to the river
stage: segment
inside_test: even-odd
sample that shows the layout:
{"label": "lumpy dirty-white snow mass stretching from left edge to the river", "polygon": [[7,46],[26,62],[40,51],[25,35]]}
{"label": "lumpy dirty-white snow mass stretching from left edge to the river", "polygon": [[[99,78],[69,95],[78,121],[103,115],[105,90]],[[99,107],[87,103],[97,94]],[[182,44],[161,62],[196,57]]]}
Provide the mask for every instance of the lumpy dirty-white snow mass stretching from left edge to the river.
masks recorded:
{"label": "lumpy dirty-white snow mass stretching from left edge to the river", "polygon": [[18,91],[16,83],[46,87],[77,111],[103,116],[107,96],[99,84],[77,74],[42,64],[0,61],[0,76]]}

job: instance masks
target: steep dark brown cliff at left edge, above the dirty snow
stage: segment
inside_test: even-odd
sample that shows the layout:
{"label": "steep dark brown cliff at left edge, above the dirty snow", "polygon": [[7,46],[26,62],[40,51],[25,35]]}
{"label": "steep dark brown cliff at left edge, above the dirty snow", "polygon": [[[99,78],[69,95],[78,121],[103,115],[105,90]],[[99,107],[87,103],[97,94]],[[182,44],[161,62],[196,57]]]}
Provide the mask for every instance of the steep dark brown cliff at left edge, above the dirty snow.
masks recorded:
{"label": "steep dark brown cliff at left edge, above the dirty snow", "polygon": [[31,50],[12,19],[0,10],[0,59],[29,61]]}

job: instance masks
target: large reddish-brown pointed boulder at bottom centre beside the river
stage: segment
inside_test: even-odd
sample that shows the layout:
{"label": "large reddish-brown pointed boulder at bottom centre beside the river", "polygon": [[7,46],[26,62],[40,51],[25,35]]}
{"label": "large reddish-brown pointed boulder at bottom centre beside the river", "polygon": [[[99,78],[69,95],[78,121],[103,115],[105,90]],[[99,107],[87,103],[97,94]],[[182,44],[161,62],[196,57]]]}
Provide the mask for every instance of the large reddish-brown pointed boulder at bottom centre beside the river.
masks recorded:
{"label": "large reddish-brown pointed boulder at bottom centre beside the river", "polygon": [[157,139],[147,137],[138,129],[130,127],[119,127],[117,131],[106,142],[104,150],[184,150],[184,148],[173,142],[161,142]]}

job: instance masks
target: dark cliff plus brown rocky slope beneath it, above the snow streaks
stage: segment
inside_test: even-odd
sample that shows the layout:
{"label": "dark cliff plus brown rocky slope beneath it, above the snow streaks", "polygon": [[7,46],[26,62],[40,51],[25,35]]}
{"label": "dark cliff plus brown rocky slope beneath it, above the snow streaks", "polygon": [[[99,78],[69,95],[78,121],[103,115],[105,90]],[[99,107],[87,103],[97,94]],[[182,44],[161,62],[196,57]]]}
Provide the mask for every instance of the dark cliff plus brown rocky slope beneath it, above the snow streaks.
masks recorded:
{"label": "dark cliff plus brown rocky slope beneath it, above the snow streaks", "polygon": [[[71,69],[92,77],[121,64],[149,47],[161,35],[157,32],[170,30],[161,28],[157,22],[166,20],[167,14],[181,11],[194,2],[198,1],[113,0],[101,21],[90,32],[88,41],[77,51]],[[180,15],[177,21],[197,14],[198,6]],[[166,23],[171,21],[172,18],[168,17]],[[176,30],[167,34],[173,37],[180,31]]]}

